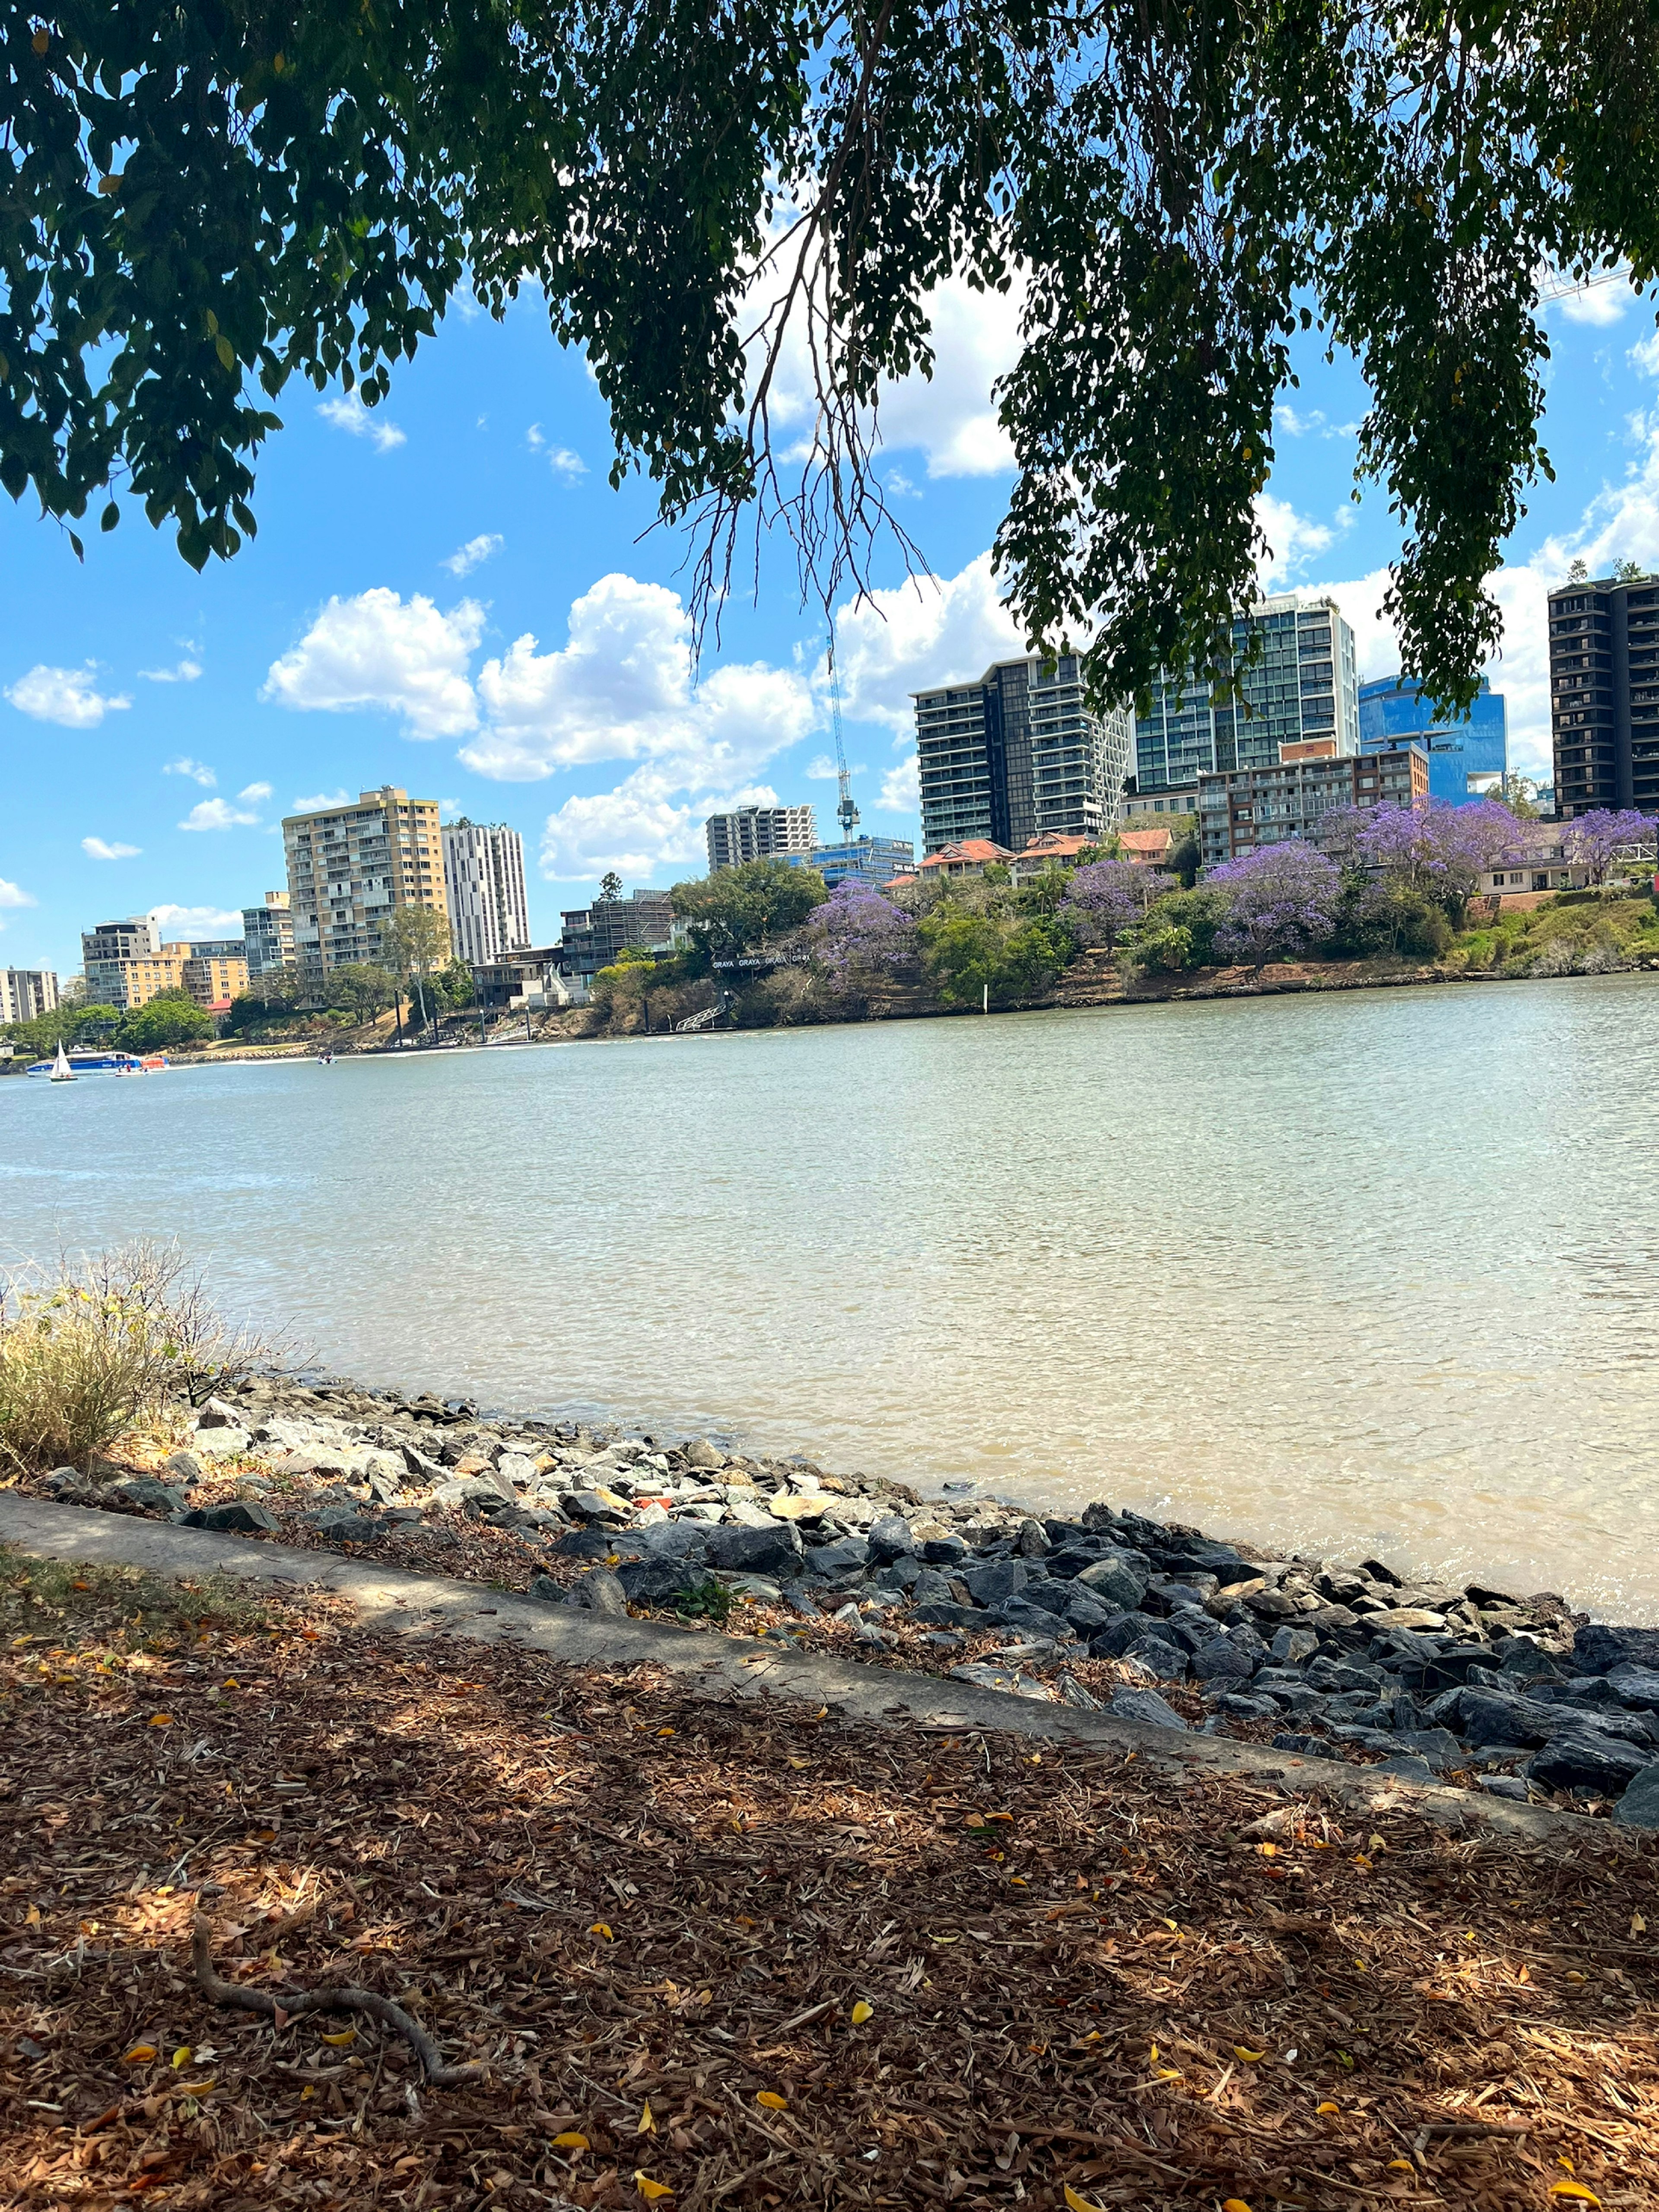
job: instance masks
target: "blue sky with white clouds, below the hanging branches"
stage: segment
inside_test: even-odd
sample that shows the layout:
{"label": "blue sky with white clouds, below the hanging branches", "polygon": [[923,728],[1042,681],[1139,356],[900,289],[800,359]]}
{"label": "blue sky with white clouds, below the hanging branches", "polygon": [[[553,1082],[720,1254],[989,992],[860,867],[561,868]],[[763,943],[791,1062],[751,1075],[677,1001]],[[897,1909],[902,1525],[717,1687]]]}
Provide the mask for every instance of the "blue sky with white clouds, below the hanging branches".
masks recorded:
{"label": "blue sky with white clouds, below the hanging branches", "polygon": [[[1015,650],[987,549],[1006,495],[989,385],[1013,310],[938,301],[940,367],[883,411],[889,491],[936,582],[885,557],[876,604],[838,617],[863,827],[916,836],[907,692]],[[1604,288],[1551,307],[1546,440],[1498,577],[1493,684],[1511,752],[1548,763],[1544,593],[1582,553],[1659,562],[1652,307]],[[785,380],[785,409],[790,387]],[[1274,588],[1334,588],[1363,675],[1394,670],[1378,617],[1398,546],[1387,500],[1352,493],[1363,385],[1310,345],[1267,487]],[[538,942],[617,867],[701,874],[717,801],[776,794],[830,825],[823,639],[783,546],[761,604],[726,608],[692,672],[684,544],[639,482],[611,491],[604,409],[577,356],[520,303],[451,314],[374,416],[294,387],[259,467],[259,538],[192,575],[135,509],[86,542],[0,513],[0,964],[80,964],[80,929],[159,909],[217,933],[283,883],[279,821],[400,783],[522,836]]]}

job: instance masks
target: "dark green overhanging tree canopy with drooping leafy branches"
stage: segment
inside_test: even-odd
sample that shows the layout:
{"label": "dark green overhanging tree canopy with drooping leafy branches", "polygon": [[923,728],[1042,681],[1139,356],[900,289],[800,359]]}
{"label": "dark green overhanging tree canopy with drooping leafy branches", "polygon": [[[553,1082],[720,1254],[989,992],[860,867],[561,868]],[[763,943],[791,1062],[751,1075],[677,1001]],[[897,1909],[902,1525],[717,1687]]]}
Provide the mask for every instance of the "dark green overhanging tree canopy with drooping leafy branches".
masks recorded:
{"label": "dark green overhanging tree canopy with drooping leafy branches", "polygon": [[[1540,268],[1659,250],[1655,0],[62,0],[0,38],[13,498],[228,557],[294,376],[376,405],[462,281],[540,285],[699,604],[745,522],[827,602],[896,526],[878,396],[956,274],[1018,288],[998,564],[1097,697],[1252,595],[1314,327],[1371,389],[1405,664],[1467,706],[1548,469]],[[785,347],[818,405],[774,447]]]}

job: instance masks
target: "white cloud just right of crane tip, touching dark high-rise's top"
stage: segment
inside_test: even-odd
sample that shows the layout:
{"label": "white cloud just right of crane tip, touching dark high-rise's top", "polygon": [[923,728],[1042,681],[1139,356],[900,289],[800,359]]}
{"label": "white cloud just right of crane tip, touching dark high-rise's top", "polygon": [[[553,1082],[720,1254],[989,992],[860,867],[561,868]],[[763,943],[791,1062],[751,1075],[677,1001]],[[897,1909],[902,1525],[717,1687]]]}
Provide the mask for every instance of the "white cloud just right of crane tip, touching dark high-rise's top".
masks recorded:
{"label": "white cloud just right of crane tip, touching dark high-rise's top", "polygon": [[960,575],[916,577],[836,613],[843,708],[854,721],[885,723],[898,737],[916,734],[909,692],[953,677],[978,679],[991,661],[1018,653],[1024,639],[998,597],[989,553]]}

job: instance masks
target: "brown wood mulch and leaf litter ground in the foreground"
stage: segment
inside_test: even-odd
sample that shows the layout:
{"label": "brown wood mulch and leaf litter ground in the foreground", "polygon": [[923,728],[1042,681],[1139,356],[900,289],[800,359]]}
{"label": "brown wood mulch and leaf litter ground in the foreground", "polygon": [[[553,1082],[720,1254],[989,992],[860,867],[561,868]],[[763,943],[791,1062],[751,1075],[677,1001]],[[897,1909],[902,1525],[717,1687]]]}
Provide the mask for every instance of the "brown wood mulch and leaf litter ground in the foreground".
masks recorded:
{"label": "brown wood mulch and leaf litter ground in the foreground", "polygon": [[15,1559],[0,1701],[7,2212],[1659,2201],[1648,1838]]}

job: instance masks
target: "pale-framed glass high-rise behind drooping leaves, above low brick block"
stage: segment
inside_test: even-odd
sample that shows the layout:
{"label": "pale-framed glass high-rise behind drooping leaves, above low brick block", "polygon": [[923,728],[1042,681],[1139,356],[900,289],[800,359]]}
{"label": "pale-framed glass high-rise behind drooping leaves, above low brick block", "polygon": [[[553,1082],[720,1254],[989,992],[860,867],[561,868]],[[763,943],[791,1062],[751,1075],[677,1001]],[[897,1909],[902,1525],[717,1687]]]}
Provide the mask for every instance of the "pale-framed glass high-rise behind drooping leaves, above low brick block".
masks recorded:
{"label": "pale-framed glass high-rise behind drooping leaves, above low brick block", "polygon": [[1338,759],[1360,750],[1354,630],[1334,599],[1263,599],[1232,624],[1219,675],[1161,672],[1135,723],[1135,790],[1194,792],[1201,774],[1276,768],[1281,745],[1321,737]]}

